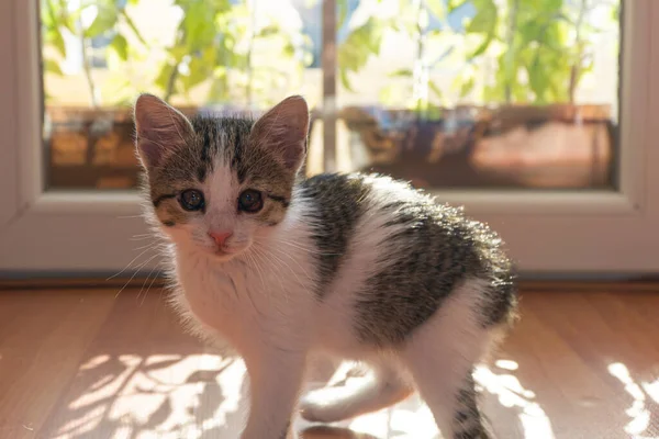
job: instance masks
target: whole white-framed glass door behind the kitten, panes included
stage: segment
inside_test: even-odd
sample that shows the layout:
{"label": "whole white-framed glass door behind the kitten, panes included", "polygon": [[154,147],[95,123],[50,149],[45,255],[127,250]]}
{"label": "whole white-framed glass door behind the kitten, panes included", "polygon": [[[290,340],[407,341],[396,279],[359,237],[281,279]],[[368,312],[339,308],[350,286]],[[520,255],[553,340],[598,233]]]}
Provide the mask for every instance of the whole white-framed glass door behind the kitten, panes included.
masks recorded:
{"label": "whole white-framed glass door behind the kitten, panes included", "polygon": [[[156,18],[156,19],[154,19]],[[152,271],[131,104],[312,108],[305,172],[462,204],[527,273],[659,269],[652,0],[9,0],[0,273]]]}

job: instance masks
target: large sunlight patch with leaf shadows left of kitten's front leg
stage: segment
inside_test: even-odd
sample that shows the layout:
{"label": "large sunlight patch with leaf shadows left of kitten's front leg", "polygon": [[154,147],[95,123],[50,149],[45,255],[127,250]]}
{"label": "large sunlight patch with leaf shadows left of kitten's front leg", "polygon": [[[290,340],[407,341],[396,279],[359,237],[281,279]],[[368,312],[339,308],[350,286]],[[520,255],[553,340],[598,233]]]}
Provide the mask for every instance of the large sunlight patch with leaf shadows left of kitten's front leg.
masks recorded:
{"label": "large sunlight patch with leaf shadows left of kitten's front leg", "polygon": [[196,439],[221,430],[228,438],[243,420],[244,378],[242,361],[213,354],[98,356],[79,369],[77,379],[89,385],[68,403],[56,438],[101,427],[112,438]]}

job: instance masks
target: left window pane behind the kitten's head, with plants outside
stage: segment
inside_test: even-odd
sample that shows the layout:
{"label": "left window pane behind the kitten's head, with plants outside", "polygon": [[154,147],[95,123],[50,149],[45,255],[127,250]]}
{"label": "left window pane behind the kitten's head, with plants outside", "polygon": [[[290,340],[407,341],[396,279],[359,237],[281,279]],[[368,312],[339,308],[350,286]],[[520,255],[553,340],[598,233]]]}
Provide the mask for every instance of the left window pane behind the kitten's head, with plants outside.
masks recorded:
{"label": "left window pane behind the kitten's head, with plants outside", "polygon": [[186,114],[316,105],[320,10],[306,0],[41,0],[47,189],[137,184],[131,103]]}

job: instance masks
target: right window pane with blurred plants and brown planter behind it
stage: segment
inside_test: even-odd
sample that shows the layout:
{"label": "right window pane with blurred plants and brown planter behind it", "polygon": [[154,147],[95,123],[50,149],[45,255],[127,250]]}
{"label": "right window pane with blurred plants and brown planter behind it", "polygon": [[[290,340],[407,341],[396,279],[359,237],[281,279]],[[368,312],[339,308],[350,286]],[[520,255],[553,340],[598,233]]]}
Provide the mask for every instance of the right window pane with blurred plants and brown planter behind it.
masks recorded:
{"label": "right window pane with blurred plants and brown planter behind it", "polygon": [[345,4],[338,169],[424,188],[615,188],[618,1]]}

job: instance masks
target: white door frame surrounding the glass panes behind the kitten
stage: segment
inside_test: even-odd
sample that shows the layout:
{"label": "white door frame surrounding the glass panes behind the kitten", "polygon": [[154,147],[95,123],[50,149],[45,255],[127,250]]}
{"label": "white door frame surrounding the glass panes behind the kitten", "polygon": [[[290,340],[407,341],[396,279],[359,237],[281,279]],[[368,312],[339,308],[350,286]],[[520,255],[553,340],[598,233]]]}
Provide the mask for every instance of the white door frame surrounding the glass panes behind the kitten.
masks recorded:
{"label": "white door frame surrounding the glass panes behind the kitten", "polygon": [[[43,190],[37,8],[0,3],[0,277],[115,272],[147,232],[138,196]],[[623,16],[619,191],[436,192],[500,232],[523,272],[659,272],[659,2],[625,0]]]}

